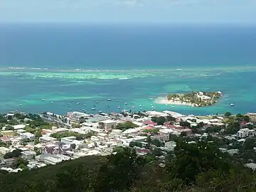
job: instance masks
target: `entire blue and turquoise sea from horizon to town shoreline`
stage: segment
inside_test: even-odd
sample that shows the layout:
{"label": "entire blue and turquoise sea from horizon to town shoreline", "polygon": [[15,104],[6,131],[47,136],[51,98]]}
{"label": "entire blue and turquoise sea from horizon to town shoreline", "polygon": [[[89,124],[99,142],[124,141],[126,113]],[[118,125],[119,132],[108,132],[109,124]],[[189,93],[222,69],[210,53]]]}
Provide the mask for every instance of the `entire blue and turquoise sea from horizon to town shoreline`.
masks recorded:
{"label": "entire blue and turquoise sea from horizon to town shoreline", "polygon": [[[1,23],[0,112],[256,112],[255,50],[255,26]],[[191,91],[224,96],[210,107],[149,99]]]}

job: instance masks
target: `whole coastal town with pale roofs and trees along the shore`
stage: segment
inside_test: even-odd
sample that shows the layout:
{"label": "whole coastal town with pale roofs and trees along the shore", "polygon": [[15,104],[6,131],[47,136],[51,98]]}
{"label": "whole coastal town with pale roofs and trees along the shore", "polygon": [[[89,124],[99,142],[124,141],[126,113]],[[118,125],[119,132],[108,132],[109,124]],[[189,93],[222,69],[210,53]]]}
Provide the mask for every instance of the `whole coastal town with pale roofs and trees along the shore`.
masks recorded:
{"label": "whole coastal town with pale roofs and trees along the shore", "polygon": [[207,116],[171,111],[9,112],[0,115],[0,168],[8,172],[36,169],[82,156],[107,156],[122,147],[135,149],[138,156],[157,157],[164,167],[176,138],[186,137],[188,144],[202,139],[213,142],[254,170],[255,153],[247,151],[256,149],[255,122],[256,113],[249,112]]}

